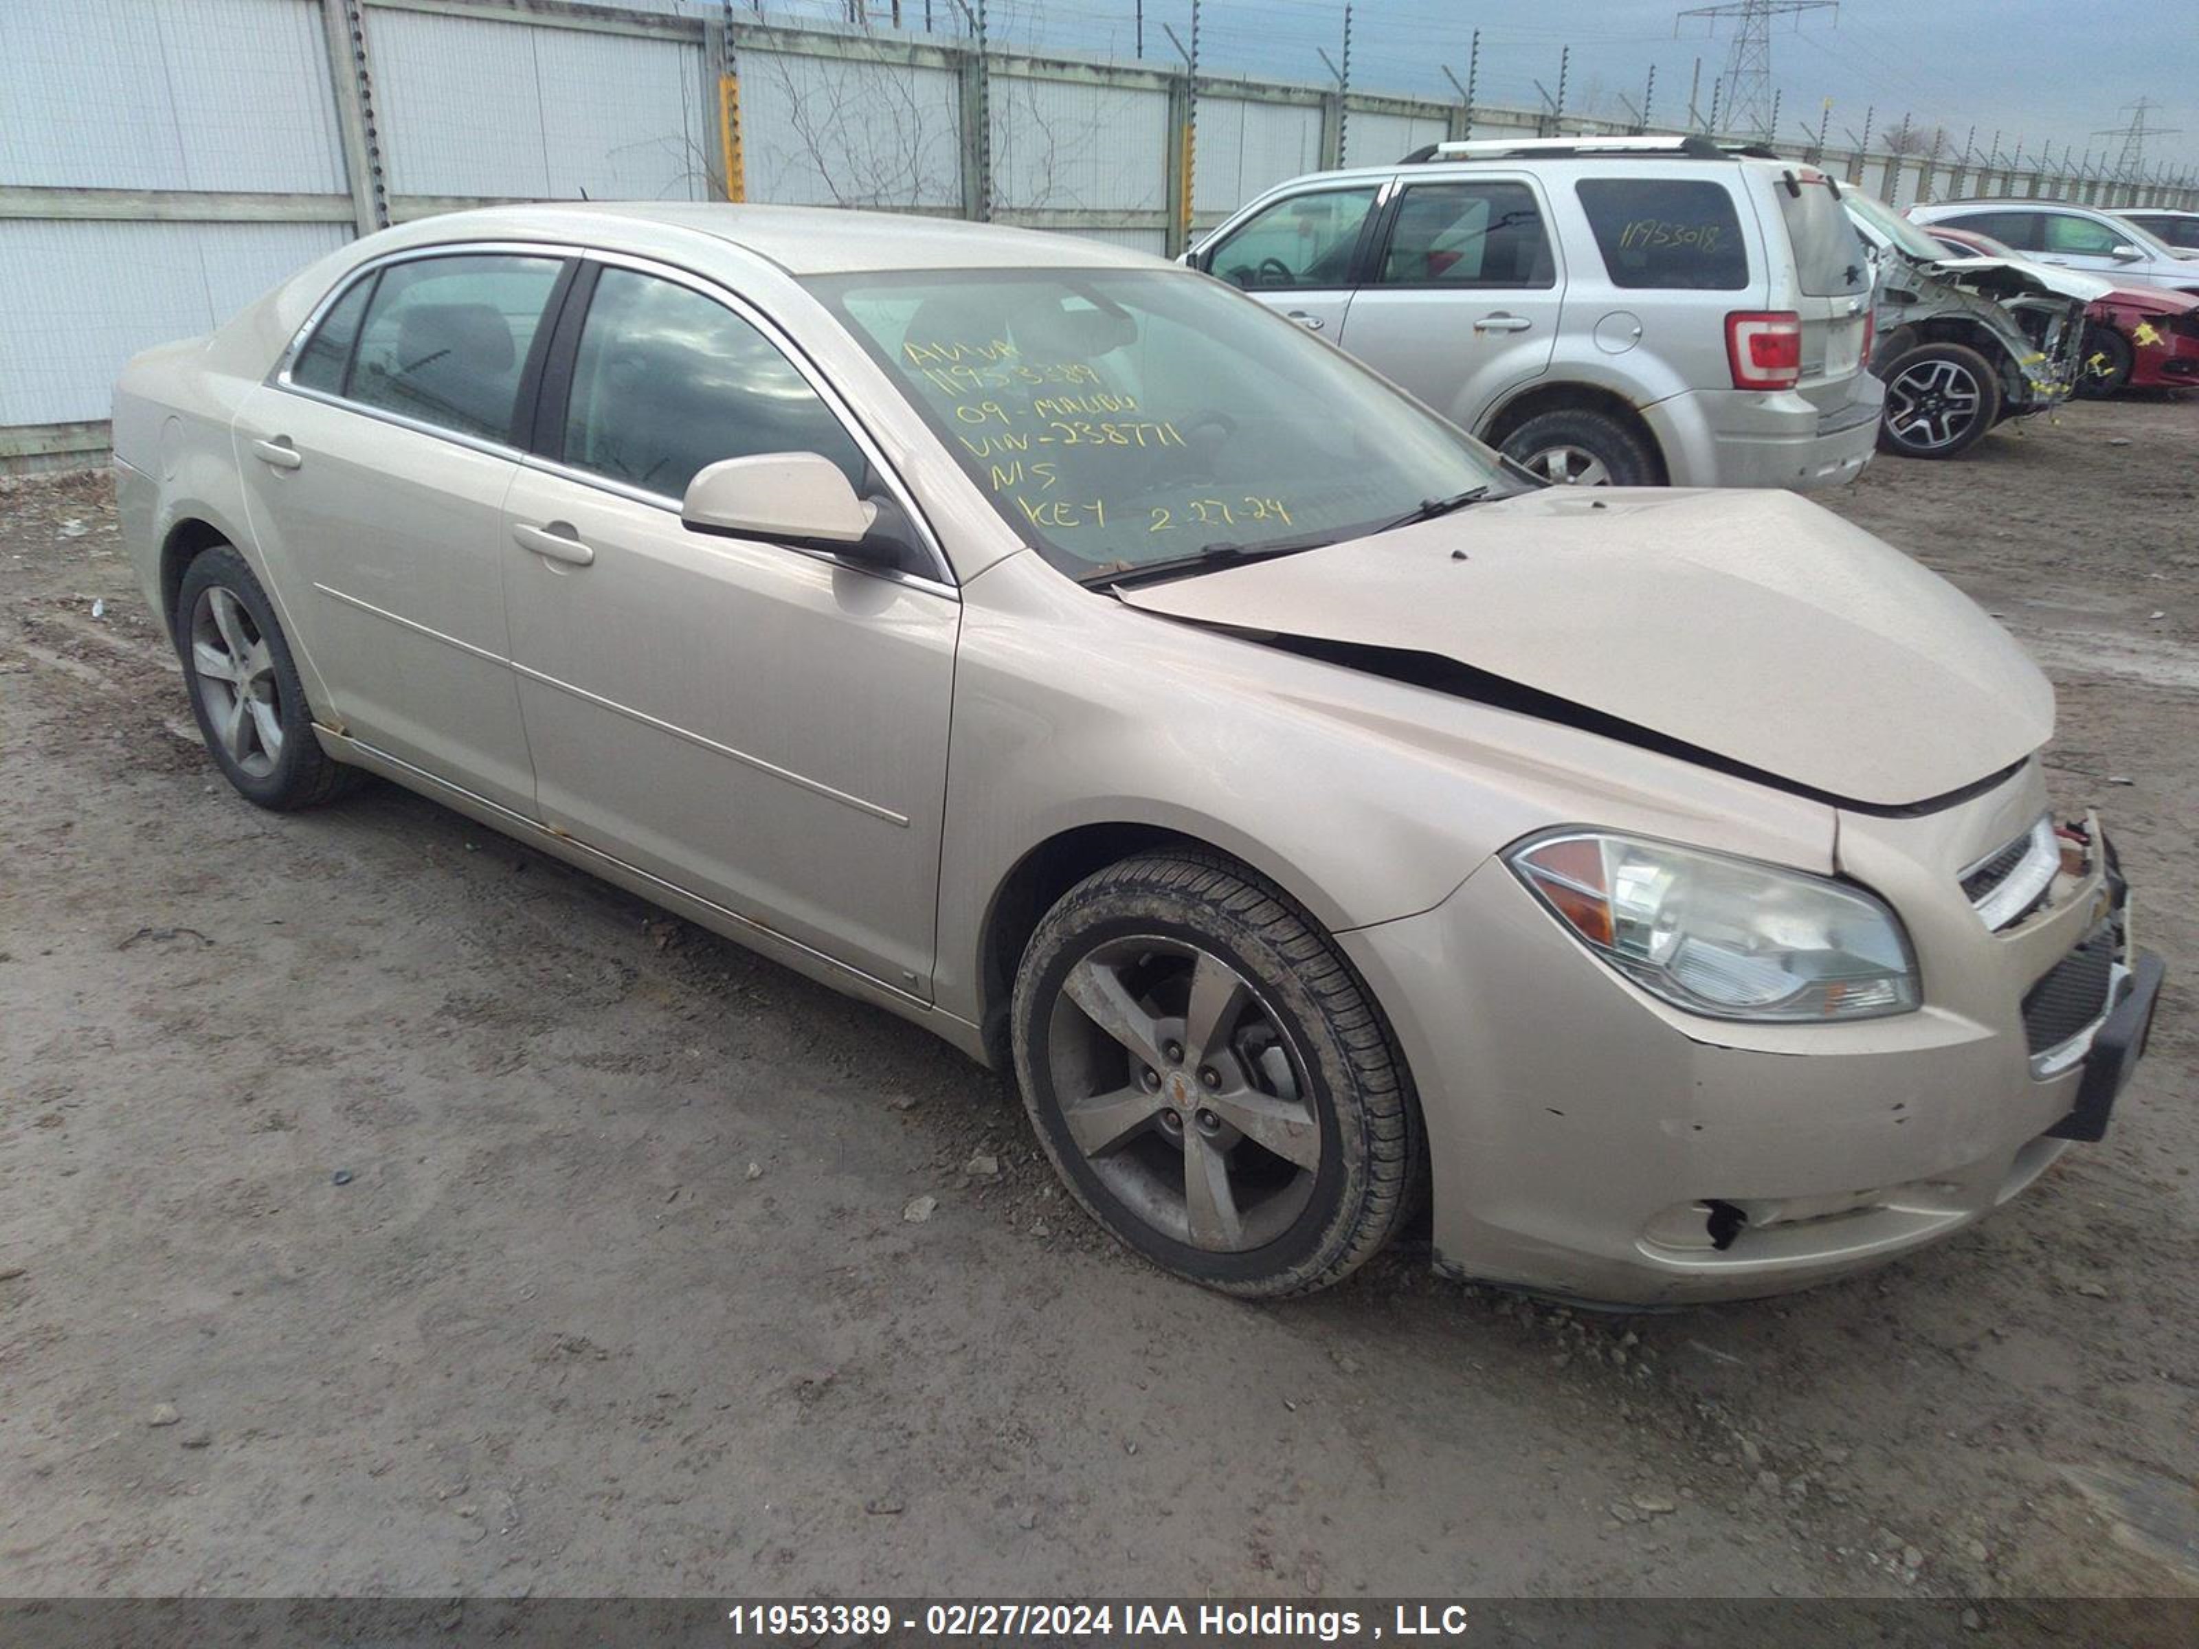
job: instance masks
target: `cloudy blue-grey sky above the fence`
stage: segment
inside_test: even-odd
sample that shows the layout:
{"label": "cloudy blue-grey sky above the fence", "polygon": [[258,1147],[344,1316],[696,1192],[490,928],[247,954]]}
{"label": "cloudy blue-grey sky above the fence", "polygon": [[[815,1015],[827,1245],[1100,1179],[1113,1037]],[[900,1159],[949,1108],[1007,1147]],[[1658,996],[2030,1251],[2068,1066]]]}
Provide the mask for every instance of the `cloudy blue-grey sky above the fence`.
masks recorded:
{"label": "cloudy blue-grey sky above the fence", "polygon": [[[902,0],[904,26],[921,26],[926,0]],[[974,0],[972,0],[974,2]],[[946,31],[959,0],[932,0]],[[840,11],[838,0],[778,0],[767,9]],[[871,0],[884,20],[891,0]],[[1018,42],[1130,55],[1137,0],[987,0],[992,31]],[[1658,123],[1687,108],[1689,77],[1702,57],[1702,103],[1726,66],[1733,22],[1687,20],[1667,0],[1355,0],[1352,84],[1449,97],[1440,64],[1460,79],[1467,44],[1482,31],[1478,92],[1535,103],[1535,81],[1557,90],[1559,48],[1572,46],[1568,112],[1623,117],[1616,95],[1640,103],[1656,64]],[[1161,24],[1190,40],[1190,0],[1146,0],[1146,55],[1172,57]],[[844,11],[842,11],[844,15]],[[1715,29],[1715,33],[1713,33]],[[1341,0],[1201,0],[1201,66],[1324,79],[1315,48],[1341,53]],[[2146,145],[2148,161],[2199,169],[2199,7],[2190,0],[1843,0],[1838,15],[1816,11],[1772,24],[1772,84],[1779,123],[1794,139],[1832,99],[1832,141],[1863,132],[1876,106],[1876,132],[1900,123],[1944,125],[1959,150],[1970,125],[1983,145],[2001,132],[2003,154],[2023,136],[2025,156],[2052,141],[2082,154],[2120,154],[2120,139],[2098,128],[2129,123],[2126,103],[2151,97],[2164,108],[2148,125],[2184,128]],[[2113,154],[2109,158],[2113,158]]]}

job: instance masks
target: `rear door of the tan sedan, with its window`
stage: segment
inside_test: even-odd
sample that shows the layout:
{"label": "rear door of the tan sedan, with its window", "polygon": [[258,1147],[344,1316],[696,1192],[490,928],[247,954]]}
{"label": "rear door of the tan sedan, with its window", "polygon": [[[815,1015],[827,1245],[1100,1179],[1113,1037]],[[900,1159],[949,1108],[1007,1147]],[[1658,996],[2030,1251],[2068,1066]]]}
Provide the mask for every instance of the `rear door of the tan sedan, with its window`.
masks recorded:
{"label": "rear door of the tan sedan, with its window", "polygon": [[246,514],[363,743],[532,816],[504,627],[504,495],[528,354],[567,264],[433,255],[369,273],[233,424]]}

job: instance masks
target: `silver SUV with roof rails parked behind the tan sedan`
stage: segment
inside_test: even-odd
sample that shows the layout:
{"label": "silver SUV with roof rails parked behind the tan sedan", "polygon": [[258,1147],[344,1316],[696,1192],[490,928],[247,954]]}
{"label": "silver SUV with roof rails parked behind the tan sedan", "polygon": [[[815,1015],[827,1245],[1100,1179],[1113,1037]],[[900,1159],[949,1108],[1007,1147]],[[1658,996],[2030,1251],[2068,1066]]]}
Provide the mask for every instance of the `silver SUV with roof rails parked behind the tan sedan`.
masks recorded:
{"label": "silver SUV with roof rails parked behind the tan sedan", "polygon": [[1577,486],[1852,479],[1885,398],[1823,171],[1704,139],[1438,143],[1278,185],[1192,251]]}

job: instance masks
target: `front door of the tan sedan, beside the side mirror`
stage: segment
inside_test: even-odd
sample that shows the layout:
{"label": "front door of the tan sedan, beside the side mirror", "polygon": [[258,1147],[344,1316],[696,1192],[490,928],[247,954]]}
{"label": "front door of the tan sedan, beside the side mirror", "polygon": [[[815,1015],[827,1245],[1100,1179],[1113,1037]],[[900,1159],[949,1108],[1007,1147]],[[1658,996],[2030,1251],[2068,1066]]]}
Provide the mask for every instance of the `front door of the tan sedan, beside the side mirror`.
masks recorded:
{"label": "front door of the tan sedan, beside the side mirror", "polygon": [[723,457],[822,453],[886,486],[765,325],[616,264],[565,306],[501,547],[537,805],[928,998],[961,602],[921,547],[877,572],[679,519]]}

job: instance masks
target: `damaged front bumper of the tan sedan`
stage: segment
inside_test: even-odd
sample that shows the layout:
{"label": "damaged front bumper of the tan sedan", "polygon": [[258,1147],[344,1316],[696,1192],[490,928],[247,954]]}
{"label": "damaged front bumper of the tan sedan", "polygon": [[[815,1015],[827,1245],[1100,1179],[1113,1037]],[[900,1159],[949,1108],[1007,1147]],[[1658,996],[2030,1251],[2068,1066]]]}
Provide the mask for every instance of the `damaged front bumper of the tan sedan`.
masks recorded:
{"label": "damaged front bumper of the tan sedan", "polygon": [[[1953,882],[1959,835],[1907,824],[1843,816],[1863,860],[1843,871],[1920,956],[1924,1007],[1880,1020],[1673,1009],[1495,860],[1436,910],[1344,934],[1412,1060],[1438,1264],[1610,1304],[1786,1293],[1948,1236],[2096,1139],[2159,989],[2104,844],[2069,829],[2047,901],[1990,932]],[[2087,941],[2113,972],[2074,1027],[2067,989],[2060,1020],[2038,992],[2082,985],[2063,974],[2093,965]],[[2082,1042],[2041,1064],[2043,1033]]]}

